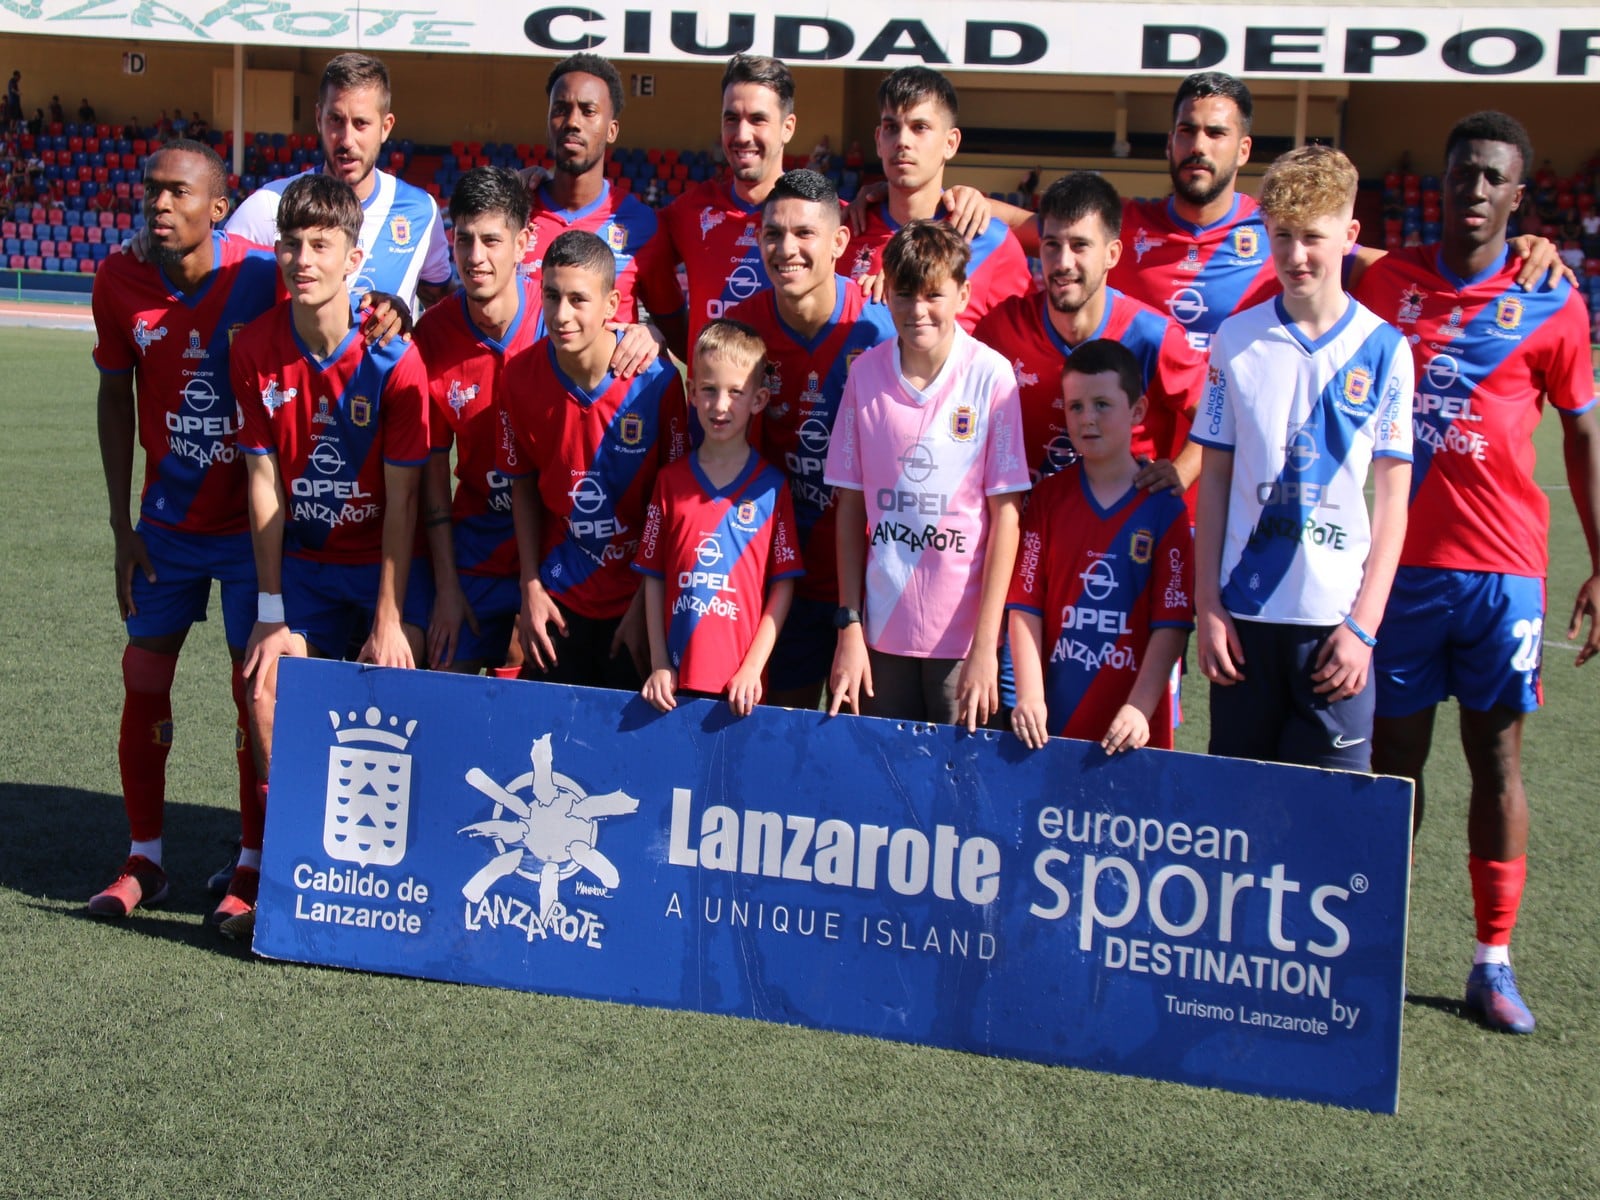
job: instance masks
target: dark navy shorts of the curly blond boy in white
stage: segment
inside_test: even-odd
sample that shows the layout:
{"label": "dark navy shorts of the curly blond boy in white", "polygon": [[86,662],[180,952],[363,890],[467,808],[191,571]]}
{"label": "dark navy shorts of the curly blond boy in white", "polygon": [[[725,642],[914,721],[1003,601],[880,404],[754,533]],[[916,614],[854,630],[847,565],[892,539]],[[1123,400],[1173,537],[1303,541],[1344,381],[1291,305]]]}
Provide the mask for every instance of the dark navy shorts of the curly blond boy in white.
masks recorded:
{"label": "dark navy shorts of the curly blond boy in white", "polygon": [[1373,760],[1373,677],[1355,696],[1330,701],[1310,677],[1338,626],[1234,619],[1245,651],[1243,682],[1211,685],[1211,754],[1366,771]]}

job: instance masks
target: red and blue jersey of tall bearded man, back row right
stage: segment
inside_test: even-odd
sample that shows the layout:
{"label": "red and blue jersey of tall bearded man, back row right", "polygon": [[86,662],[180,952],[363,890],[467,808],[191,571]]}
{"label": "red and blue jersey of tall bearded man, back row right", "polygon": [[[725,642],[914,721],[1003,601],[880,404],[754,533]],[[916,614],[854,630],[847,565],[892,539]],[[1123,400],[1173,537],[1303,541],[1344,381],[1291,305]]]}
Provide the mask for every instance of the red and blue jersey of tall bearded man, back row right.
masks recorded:
{"label": "red and blue jersey of tall bearded man, back row right", "polygon": [[1235,312],[1277,296],[1267,226],[1256,202],[1238,192],[1227,216],[1192,226],[1165,200],[1123,200],[1122,261],[1107,282],[1184,328],[1205,352]]}

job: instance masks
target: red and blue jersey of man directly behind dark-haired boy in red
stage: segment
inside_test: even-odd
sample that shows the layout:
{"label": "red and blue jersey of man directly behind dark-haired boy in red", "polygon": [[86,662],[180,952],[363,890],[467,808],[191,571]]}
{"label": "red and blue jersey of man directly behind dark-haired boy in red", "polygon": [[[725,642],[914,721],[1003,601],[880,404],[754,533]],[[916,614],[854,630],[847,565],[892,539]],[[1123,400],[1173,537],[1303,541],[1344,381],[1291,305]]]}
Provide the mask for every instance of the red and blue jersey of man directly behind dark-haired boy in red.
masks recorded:
{"label": "red and blue jersey of man directly behind dark-haired boy in red", "polygon": [[[1061,398],[1061,370],[1072,347],[1050,323],[1048,306],[1050,298],[1040,293],[1013,296],[984,317],[974,334],[1016,371],[1027,469],[1035,480],[1078,458],[1067,437]],[[1093,338],[1122,342],[1139,360],[1150,403],[1144,422],[1133,430],[1133,453],[1139,458],[1176,456],[1182,448],[1179,434],[1189,435],[1184,413],[1200,403],[1205,389],[1205,355],[1189,346],[1174,322],[1115,288],[1106,288],[1106,318],[1088,339]]]}

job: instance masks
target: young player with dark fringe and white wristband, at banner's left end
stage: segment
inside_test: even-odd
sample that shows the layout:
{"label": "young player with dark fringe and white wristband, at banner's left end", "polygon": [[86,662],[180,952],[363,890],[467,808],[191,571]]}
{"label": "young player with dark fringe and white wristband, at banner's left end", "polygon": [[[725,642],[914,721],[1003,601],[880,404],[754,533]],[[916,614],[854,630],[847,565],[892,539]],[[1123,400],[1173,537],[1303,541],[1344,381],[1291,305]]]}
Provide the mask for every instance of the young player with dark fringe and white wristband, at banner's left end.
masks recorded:
{"label": "young player with dark fringe and white wristband, at banner's left end", "polygon": [[[256,765],[272,768],[278,659],[339,654],[362,627],[363,662],[422,656],[427,570],[411,562],[427,461],[427,379],[408,342],[366,346],[346,280],[362,261],[349,184],[307,174],[278,206],[290,301],[234,342],[259,595],[245,648]],[[222,922],[248,939],[254,907]]]}

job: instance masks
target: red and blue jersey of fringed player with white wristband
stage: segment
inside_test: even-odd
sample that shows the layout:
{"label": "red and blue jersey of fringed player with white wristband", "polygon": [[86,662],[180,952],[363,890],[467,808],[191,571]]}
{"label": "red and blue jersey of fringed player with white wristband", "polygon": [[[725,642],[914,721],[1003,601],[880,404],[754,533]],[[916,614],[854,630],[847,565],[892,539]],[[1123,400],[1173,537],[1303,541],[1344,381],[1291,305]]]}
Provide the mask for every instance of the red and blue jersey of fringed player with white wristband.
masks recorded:
{"label": "red and blue jersey of fringed player with white wristband", "polygon": [[352,326],[318,360],[285,301],[234,341],[234,392],[245,410],[240,450],[278,456],[283,552],[379,562],[384,466],[427,461],[427,374],[416,347],[398,338],[368,346]]}

